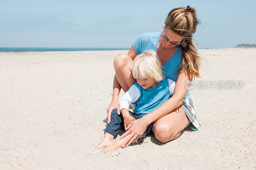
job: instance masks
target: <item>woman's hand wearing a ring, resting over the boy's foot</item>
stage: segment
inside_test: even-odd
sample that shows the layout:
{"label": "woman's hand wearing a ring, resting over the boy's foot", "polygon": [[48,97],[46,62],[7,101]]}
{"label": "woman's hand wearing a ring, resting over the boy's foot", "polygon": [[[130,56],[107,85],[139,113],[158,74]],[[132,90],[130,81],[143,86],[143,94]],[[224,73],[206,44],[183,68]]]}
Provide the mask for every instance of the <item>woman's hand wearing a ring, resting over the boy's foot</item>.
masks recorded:
{"label": "woman's hand wearing a ring, resting over the boy's foot", "polygon": [[[144,117],[144,116],[143,116]],[[137,120],[132,121],[126,128],[125,130],[127,130],[122,136],[119,137],[118,140],[126,137],[127,135],[129,135],[129,137],[127,137],[124,141],[124,143],[122,144],[122,147],[124,146],[129,146],[131,143],[136,142],[137,139],[139,139],[141,137],[141,135],[146,131],[148,124],[147,124],[147,120],[145,118],[140,118]]]}

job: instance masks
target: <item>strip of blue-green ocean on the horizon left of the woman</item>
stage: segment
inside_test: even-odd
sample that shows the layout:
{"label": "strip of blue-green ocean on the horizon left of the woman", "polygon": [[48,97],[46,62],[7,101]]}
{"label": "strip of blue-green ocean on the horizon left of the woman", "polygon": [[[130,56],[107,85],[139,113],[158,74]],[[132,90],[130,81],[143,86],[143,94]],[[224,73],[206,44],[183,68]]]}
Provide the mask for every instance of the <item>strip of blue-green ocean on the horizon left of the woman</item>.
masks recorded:
{"label": "strip of blue-green ocean on the horizon left of the woman", "polygon": [[103,51],[129,50],[130,48],[0,48],[0,52],[30,52],[30,51]]}

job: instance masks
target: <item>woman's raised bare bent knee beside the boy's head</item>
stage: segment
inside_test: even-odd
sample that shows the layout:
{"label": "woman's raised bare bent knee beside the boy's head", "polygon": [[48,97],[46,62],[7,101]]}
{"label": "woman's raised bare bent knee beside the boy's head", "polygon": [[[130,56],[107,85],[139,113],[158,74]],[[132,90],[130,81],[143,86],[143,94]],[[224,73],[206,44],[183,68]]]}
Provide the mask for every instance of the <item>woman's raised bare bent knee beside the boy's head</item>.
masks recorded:
{"label": "woman's raised bare bent knee beside the boy's head", "polygon": [[116,55],[114,59],[116,78],[124,92],[127,92],[136,82],[136,79],[132,76],[132,63],[131,57],[125,53]]}

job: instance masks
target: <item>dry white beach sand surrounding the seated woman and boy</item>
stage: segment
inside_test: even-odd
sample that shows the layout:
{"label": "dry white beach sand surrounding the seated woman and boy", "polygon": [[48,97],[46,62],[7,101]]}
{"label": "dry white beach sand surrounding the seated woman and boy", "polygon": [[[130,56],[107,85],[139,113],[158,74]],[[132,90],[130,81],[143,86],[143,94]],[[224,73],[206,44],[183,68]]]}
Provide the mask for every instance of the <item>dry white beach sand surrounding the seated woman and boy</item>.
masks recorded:
{"label": "dry white beach sand surrounding the seated woman and boy", "polygon": [[201,80],[245,82],[242,90],[191,90],[199,131],[166,144],[151,134],[141,145],[94,149],[122,52],[0,53],[0,169],[255,168],[256,49],[199,50],[210,70]]}

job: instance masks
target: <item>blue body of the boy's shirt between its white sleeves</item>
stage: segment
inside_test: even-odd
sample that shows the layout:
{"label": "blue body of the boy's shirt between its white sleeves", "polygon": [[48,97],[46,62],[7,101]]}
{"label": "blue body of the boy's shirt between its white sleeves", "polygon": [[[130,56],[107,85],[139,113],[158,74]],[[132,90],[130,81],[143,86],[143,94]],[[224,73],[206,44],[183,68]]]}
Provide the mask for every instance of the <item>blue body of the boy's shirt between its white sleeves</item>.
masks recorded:
{"label": "blue body of the boy's shirt between its white sleeves", "polygon": [[[160,81],[155,88],[143,89],[138,82],[134,83],[139,91],[140,97],[135,102],[135,112],[137,115],[148,114],[161,106],[171,96],[168,79]],[[171,81],[171,80],[170,80]]]}

